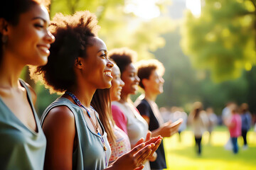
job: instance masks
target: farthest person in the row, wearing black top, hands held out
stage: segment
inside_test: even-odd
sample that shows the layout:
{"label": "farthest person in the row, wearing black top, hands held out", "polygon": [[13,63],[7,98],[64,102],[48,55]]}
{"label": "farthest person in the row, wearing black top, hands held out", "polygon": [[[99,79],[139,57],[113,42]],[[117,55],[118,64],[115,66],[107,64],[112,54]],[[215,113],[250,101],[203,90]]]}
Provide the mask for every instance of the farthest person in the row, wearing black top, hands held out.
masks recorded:
{"label": "farthest person in the row, wearing black top, hands held out", "polygon": [[[172,124],[169,120],[164,123],[163,118],[156,105],[156,97],[163,93],[164,65],[158,60],[141,60],[136,63],[139,86],[144,89],[144,94],[137,98],[134,106],[137,106],[139,113],[149,125],[152,136],[161,135],[162,137],[171,137],[178,132],[182,119]],[[164,143],[161,142],[159,149],[156,150],[156,161],[150,162],[151,169],[166,169],[166,158],[164,153]]]}

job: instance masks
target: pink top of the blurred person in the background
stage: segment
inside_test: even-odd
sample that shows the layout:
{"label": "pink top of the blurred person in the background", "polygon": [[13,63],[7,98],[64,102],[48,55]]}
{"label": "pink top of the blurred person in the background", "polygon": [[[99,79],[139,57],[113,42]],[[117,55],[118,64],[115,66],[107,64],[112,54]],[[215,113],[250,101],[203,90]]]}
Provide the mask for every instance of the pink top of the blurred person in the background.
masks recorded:
{"label": "pink top of the blurred person in the background", "polygon": [[230,137],[239,137],[241,135],[242,121],[240,115],[237,113],[231,115],[230,118]]}

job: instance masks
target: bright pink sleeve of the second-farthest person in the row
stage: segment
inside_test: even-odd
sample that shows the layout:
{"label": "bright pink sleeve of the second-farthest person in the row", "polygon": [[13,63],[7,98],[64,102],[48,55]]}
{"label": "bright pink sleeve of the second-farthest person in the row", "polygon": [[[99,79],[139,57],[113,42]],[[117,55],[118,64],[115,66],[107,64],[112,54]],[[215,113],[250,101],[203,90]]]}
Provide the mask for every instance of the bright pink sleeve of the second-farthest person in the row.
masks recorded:
{"label": "bright pink sleeve of the second-farthest person in the row", "polygon": [[117,125],[118,128],[122,129],[126,134],[127,133],[127,117],[122,113],[118,106],[111,106],[112,108],[112,115],[114,119],[114,123]]}

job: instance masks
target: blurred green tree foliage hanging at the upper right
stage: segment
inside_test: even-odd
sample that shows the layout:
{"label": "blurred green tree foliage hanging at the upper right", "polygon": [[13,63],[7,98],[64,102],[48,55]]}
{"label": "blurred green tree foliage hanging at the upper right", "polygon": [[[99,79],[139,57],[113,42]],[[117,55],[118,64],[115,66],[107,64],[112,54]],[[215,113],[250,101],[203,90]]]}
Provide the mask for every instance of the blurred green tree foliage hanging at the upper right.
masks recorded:
{"label": "blurred green tree foliage hanging at the upper right", "polygon": [[256,64],[255,0],[203,1],[200,17],[186,13],[181,45],[194,67],[215,81],[238,78]]}

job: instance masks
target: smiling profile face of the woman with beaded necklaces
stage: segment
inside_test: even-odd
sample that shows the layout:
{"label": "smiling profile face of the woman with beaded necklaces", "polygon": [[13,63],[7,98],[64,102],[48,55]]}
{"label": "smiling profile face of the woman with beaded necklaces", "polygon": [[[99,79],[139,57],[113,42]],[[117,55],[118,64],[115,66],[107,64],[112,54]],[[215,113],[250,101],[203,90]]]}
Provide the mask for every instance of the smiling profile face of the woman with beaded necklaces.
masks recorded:
{"label": "smiling profile face of the woman with beaded necklaces", "polygon": [[92,45],[87,47],[87,57],[84,60],[83,77],[88,84],[96,89],[111,87],[113,63],[107,57],[107,47],[100,38],[90,38]]}

